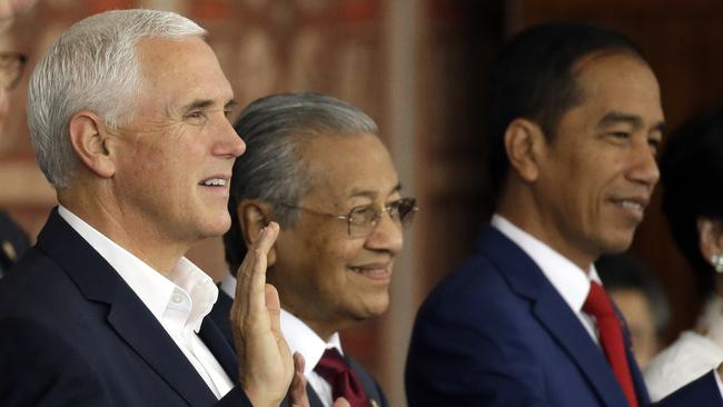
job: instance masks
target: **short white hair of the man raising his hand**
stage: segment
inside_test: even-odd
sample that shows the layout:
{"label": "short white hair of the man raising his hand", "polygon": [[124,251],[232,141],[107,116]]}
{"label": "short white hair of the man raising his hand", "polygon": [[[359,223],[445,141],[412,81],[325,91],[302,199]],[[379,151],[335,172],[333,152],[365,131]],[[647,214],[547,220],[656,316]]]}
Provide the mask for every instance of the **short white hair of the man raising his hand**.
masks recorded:
{"label": "short white hair of the man raising his hand", "polygon": [[69,136],[72,115],[90,110],[117,129],[132,119],[142,78],[136,44],[147,37],[206,36],[170,11],[113,10],[75,23],[46,52],[30,78],[28,127],[38,166],[56,188],[78,163]]}

